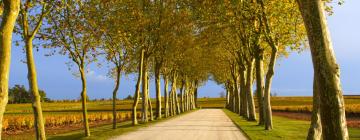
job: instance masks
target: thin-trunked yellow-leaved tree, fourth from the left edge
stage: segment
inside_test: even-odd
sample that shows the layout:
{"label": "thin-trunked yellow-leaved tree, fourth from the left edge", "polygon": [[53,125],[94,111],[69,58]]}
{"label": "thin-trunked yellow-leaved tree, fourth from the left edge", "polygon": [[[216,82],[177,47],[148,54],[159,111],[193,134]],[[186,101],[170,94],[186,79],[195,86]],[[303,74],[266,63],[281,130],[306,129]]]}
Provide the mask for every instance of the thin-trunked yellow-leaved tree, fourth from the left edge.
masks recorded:
{"label": "thin-trunked yellow-leaved tree, fourth from the left edge", "polygon": [[[129,53],[132,44],[129,42],[126,28],[127,19],[123,16],[124,11],[116,10],[123,6],[123,3],[118,1],[92,1],[86,10],[87,21],[92,28],[96,28],[98,38],[101,38],[101,50],[106,56],[108,62],[113,66],[110,69],[110,76],[114,79],[113,89],[113,129],[116,129],[116,96],[120,86],[121,74],[126,71],[129,61]],[[100,5],[100,6],[97,6]]]}

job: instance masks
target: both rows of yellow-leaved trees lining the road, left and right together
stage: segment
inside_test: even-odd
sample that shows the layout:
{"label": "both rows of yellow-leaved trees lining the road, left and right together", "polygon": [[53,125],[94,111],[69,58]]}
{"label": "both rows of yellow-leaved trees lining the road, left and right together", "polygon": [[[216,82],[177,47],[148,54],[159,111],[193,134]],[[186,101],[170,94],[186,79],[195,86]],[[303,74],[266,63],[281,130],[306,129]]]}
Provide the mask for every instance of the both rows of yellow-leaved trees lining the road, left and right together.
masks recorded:
{"label": "both rows of yellow-leaved trees lining the road, left and right together", "polygon": [[[315,74],[314,111],[308,138],[348,139],[339,68],[326,27],[325,3],[321,0],[2,0],[2,3],[0,122],[8,101],[11,37],[15,27],[26,52],[37,139],[46,136],[32,52],[35,39],[39,40],[37,47],[67,56],[69,66],[78,71],[86,136],[90,136],[86,70],[99,59],[107,60],[114,78],[114,129],[121,76],[135,73],[138,76],[134,125],[138,124],[136,112],[140,101],[144,123],[194,109],[197,88],[210,77],[226,88],[230,110],[249,121],[258,119],[260,125],[271,130],[270,91],[276,60],[290,51],[304,49],[301,46],[309,43]],[[156,86],[155,115],[149,97],[151,78]],[[165,107],[161,106],[162,91]]]}

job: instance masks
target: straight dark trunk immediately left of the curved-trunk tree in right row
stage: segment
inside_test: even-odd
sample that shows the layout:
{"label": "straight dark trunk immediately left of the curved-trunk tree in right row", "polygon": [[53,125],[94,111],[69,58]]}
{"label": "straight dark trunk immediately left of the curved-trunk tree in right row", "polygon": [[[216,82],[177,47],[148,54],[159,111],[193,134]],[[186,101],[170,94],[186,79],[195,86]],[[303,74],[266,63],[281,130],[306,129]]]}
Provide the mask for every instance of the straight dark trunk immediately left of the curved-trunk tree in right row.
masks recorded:
{"label": "straight dark trunk immediately left of the curved-trunk tree in right row", "polygon": [[258,110],[259,110],[259,125],[265,124],[264,119],[264,78],[263,78],[263,50],[260,49],[260,46],[256,46],[256,57],[255,57],[255,70],[256,70],[256,96],[258,101]]}

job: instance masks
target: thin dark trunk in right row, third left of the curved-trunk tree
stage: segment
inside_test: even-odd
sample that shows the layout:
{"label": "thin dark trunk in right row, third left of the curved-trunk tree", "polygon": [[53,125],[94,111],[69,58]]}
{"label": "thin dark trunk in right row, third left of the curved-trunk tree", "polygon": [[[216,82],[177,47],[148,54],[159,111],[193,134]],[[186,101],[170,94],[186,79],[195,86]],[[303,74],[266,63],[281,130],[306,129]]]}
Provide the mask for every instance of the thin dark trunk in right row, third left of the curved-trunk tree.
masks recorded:
{"label": "thin dark trunk in right row, third left of the curved-trunk tree", "polygon": [[246,99],[246,80],[245,80],[245,69],[239,69],[240,73],[240,115],[243,116],[245,119],[248,119],[248,104]]}

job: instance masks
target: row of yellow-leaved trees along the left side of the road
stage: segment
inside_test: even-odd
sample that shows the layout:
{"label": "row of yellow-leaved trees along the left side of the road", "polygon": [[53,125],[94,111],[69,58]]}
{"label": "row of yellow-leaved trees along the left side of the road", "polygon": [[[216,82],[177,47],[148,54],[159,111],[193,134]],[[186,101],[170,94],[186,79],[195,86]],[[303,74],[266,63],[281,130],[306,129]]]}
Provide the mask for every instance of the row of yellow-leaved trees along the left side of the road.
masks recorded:
{"label": "row of yellow-leaved trees along the left side of the road", "polygon": [[[4,3],[3,24],[7,20],[6,14],[20,13],[19,18],[17,14],[12,15],[13,19],[17,18],[17,22],[11,23],[12,28],[6,27],[9,35],[5,36],[11,37],[10,33],[15,28],[15,33],[23,39],[23,44],[21,44],[24,45],[26,52],[37,139],[46,139],[46,136],[33,58],[34,40],[39,40],[36,47],[42,46],[45,49],[51,49],[54,53],[66,55],[71,61],[68,63],[69,66],[77,69],[82,82],[81,101],[86,136],[90,136],[86,106],[86,70],[90,63],[96,63],[98,59],[105,58],[112,66],[109,73],[114,78],[115,85],[113,91],[114,128],[116,128],[115,101],[122,74],[138,73],[133,106],[134,125],[138,123],[136,111],[140,96],[142,96],[142,122],[145,123],[155,118],[161,119],[162,116],[173,116],[195,108],[197,87],[201,82],[206,81],[207,73],[195,72],[193,69],[196,65],[191,64],[190,57],[201,50],[192,47],[194,28],[190,10],[177,9],[180,5],[185,7],[185,3],[131,0],[2,2]],[[7,49],[10,49],[11,38],[3,40],[10,43],[7,44]],[[8,58],[10,56],[9,50],[1,54]],[[2,60],[7,60],[5,56]],[[6,70],[2,74],[8,75],[8,69]],[[148,90],[151,77],[155,78],[157,89],[155,117]],[[165,115],[161,110],[161,77],[165,81]],[[2,83],[7,84],[8,79],[4,80]],[[170,91],[168,91],[169,83],[171,83]],[[7,87],[7,85],[4,86]],[[178,93],[178,87],[181,87],[180,93]],[[7,96],[7,91],[4,91],[2,95]],[[5,101],[7,102],[7,98],[4,97],[4,102],[2,102],[4,109]]]}

